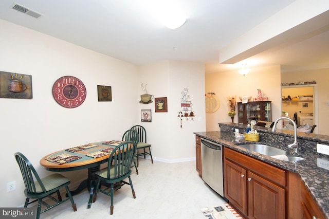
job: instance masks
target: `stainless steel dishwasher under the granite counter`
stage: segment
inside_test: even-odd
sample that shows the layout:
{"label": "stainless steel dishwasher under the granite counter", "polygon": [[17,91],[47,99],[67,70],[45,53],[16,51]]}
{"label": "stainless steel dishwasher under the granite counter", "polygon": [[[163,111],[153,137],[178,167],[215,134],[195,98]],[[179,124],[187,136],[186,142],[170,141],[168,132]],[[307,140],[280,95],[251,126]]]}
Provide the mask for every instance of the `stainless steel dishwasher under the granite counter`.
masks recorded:
{"label": "stainless steel dishwasher under the granite counter", "polygon": [[222,145],[201,138],[202,178],[214,191],[224,196]]}

